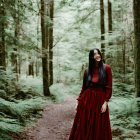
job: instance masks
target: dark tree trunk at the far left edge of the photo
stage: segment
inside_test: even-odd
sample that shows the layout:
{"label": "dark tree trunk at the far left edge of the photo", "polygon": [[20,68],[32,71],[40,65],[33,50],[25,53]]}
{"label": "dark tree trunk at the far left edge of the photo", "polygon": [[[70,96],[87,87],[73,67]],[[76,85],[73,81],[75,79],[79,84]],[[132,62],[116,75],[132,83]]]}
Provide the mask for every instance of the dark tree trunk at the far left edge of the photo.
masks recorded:
{"label": "dark tree trunk at the far left edge of the photo", "polygon": [[6,52],[5,52],[5,16],[4,1],[0,2],[0,66],[6,70]]}

